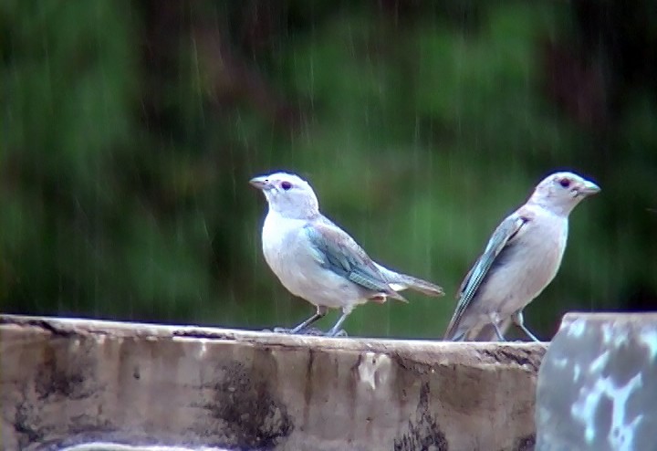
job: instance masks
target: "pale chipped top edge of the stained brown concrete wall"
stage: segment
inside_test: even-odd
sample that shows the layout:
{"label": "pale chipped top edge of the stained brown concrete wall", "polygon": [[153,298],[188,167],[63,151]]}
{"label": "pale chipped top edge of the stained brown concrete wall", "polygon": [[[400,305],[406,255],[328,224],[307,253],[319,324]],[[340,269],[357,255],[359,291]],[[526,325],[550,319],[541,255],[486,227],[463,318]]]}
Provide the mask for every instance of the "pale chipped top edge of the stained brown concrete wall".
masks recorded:
{"label": "pale chipped top edge of the stained brown concrete wall", "polygon": [[0,331],[11,327],[36,328],[57,336],[108,335],[172,340],[235,341],[254,346],[316,348],[323,351],[381,352],[419,363],[516,363],[538,370],[549,343],[453,342],[380,338],[327,338],[262,330],[237,330],[194,325],[163,325],[128,321],[32,317],[0,314]]}

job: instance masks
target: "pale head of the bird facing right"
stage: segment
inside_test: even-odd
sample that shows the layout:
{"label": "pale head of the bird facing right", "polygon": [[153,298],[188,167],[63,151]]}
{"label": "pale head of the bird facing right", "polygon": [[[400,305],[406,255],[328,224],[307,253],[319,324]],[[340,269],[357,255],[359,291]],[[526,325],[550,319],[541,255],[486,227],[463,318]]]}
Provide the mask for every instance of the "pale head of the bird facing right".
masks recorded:
{"label": "pale head of the bird facing right", "polygon": [[600,186],[576,173],[553,173],[541,181],[529,198],[529,203],[541,205],[558,215],[568,215],[575,205]]}

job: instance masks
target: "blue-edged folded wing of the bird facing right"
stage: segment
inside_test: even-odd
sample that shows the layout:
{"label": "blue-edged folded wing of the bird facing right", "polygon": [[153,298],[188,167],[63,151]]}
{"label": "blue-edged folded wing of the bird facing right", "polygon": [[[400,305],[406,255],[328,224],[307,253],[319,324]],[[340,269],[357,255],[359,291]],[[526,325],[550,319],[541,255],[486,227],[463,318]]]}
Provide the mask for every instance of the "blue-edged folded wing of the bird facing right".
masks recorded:
{"label": "blue-edged folded wing of the bird facing right", "polygon": [[470,269],[461,283],[458,292],[458,304],[454,311],[454,316],[447,327],[445,337],[451,336],[457,329],[461,319],[464,316],[465,310],[470,306],[478,289],[482,286],[488,271],[495,263],[497,258],[506,246],[511,243],[514,238],[520,234],[523,226],[529,221],[528,215],[520,215],[515,213],[506,217],[502,224],[497,226],[493,236],[488,240],[485,247],[484,254],[479,257],[474,263],[474,267]]}

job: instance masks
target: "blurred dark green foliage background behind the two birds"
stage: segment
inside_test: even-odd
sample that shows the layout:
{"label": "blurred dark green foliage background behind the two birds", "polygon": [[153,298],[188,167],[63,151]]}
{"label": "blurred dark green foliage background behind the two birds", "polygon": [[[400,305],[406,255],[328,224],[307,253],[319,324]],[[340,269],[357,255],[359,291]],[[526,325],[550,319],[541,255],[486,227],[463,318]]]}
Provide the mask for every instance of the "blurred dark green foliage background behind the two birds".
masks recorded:
{"label": "blurred dark green foliage background behind the two birds", "polygon": [[5,0],[0,309],[296,325],[314,309],[266,267],[248,184],[287,170],[447,292],[355,309],[349,334],[436,338],[495,226],[560,169],[602,193],[528,327],[654,309],[656,49],[650,0]]}

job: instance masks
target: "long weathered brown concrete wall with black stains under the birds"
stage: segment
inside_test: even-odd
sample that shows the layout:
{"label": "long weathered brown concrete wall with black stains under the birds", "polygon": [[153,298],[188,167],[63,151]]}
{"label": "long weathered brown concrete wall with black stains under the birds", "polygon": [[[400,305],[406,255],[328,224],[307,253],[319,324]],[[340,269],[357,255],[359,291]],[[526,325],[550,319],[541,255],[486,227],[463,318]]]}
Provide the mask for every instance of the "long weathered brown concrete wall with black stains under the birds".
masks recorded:
{"label": "long weathered brown concrete wall with black stains under the birds", "polygon": [[0,316],[2,444],[529,450],[544,352]]}

